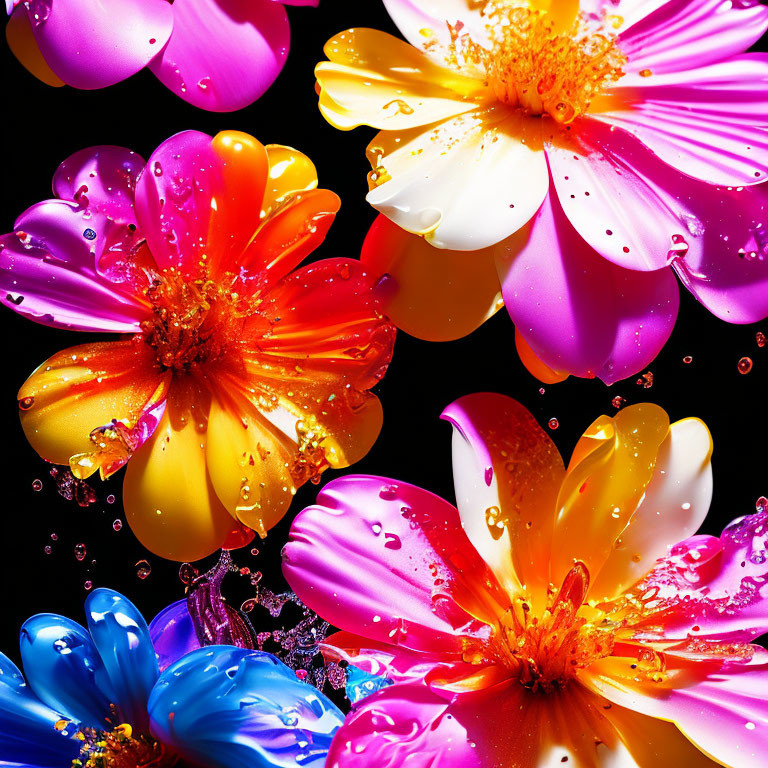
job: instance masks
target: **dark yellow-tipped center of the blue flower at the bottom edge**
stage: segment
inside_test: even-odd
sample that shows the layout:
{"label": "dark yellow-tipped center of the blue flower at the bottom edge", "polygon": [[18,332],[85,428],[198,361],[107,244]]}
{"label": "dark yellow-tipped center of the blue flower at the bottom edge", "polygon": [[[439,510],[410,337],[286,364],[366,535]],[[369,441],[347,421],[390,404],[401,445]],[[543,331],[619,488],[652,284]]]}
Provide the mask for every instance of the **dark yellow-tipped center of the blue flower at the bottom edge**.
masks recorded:
{"label": "dark yellow-tipped center of the blue flower at the bottom edge", "polygon": [[150,736],[134,736],[130,725],[118,725],[107,733],[86,728],[78,733],[83,742],[72,768],[172,768],[179,758]]}

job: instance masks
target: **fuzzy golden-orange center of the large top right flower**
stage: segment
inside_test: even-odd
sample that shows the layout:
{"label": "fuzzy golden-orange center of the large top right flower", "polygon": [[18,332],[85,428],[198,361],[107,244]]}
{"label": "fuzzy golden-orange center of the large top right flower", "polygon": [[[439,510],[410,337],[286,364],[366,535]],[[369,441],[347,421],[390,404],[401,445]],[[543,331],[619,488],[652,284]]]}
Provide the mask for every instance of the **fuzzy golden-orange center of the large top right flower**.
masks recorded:
{"label": "fuzzy golden-orange center of the large top right flower", "polygon": [[627,59],[613,31],[618,17],[593,22],[580,14],[570,29],[557,31],[546,11],[515,0],[477,0],[477,6],[486,20],[486,39],[472,40],[461,22],[449,25],[451,63],[482,68],[504,104],[570,123],[624,74]]}

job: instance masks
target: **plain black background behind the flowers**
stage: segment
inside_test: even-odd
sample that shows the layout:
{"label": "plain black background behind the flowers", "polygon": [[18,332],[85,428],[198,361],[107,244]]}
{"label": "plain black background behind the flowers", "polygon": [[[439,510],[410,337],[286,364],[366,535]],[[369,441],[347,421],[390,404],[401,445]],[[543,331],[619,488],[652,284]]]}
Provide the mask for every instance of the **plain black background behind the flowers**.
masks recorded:
{"label": "plain black background behind the flowers", "polygon": [[[364,148],[373,132],[352,133],[328,125],[316,106],[314,65],[332,35],[354,26],[370,26],[396,33],[378,0],[321,0],[321,7],[290,8],[292,46],[288,64],[272,88],[256,104],[237,113],[213,114],[182,102],[144,71],[126,82],[100,91],[54,89],[38,82],[2,47],[2,231],[13,228],[25,208],[50,196],[57,165],[71,153],[96,144],[117,144],[145,158],[170,135],[188,128],[211,135],[223,129],[253,134],[264,143],[292,145],[316,163],[320,185],[337,192],[342,209],[315,258],[359,255],[374,211],[364,200],[366,172]],[[557,418],[551,434],[567,457],[591,421],[613,414],[616,395],[628,403],[651,400],[663,406],[673,420],[698,416],[715,439],[715,496],[704,532],[719,533],[731,519],[751,512],[755,500],[768,495],[766,427],[768,426],[768,347],[758,348],[755,333],[768,334],[768,321],[754,326],[732,326],[709,315],[681,288],[677,326],[665,349],[650,366],[653,386],[644,389],[636,376],[606,387],[598,380],[569,379],[542,386],[520,364],[514,347],[514,329],[502,310],[468,338],[451,343],[428,343],[399,334],[389,373],[378,387],[385,420],[371,453],[351,471],[387,475],[413,482],[453,499],[450,427],[439,421],[441,410],[455,398],[477,391],[509,394],[526,405],[546,425]],[[99,501],[80,508],[57,492],[50,467],[28,446],[19,426],[16,392],[32,370],[65,347],[99,338],[36,325],[0,310],[0,649],[18,657],[18,631],[22,622],[40,611],[62,613],[83,620],[87,592],[108,586],[124,592],[147,618],[183,595],[178,564],[149,555],[125,525],[120,503],[122,475],[94,487]],[[687,355],[690,364],[683,363]],[[754,360],[742,375],[742,356]],[[323,476],[327,482],[334,474]],[[33,490],[40,479],[43,489]],[[264,572],[263,583],[284,588],[280,549],[296,511],[312,503],[317,487],[305,486],[283,523],[266,541],[255,541],[260,554],[249,548],[235,553],[241,566]],[[114,494],[116,501],[106,498]],[[57,541],[51,534],[58,535]],[[88,555],[79,562],[76,544]],[[51,554],[44,552],[46,545]],[[147,558],[150,576],[140,580],[135,564]],[[96,561],[95,564],[92,561]],[[207,562],[203,563],[203,566]],[[229,577],[225,585],[239,604],[248,582]],[[251,614],[257,629],[266,613]]]}

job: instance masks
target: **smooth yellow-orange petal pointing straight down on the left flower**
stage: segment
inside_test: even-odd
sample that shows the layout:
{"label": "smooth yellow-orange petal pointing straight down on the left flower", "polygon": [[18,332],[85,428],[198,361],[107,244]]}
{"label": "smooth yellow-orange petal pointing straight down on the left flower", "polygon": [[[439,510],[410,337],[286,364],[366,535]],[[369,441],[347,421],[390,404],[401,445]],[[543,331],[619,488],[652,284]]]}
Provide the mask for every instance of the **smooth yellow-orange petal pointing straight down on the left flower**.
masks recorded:
{"label": "smooth yellow-orange petal pointing straight down on the left flower", "polygon": [[169,560],[194,561],[219,549],[232,517],[206,469],[207,403],[176,381],[154,435],[128,462],[125,515],[139,541]]}

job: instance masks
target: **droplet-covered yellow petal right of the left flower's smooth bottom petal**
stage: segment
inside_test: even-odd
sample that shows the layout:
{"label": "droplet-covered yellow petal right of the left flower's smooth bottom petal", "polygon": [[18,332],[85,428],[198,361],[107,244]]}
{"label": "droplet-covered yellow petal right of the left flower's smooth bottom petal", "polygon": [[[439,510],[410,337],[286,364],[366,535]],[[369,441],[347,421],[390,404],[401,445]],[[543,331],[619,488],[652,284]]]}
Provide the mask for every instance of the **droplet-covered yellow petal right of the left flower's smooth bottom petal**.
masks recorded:
{"label": "droplet-covered yellow petal right of the left flower's smooth bottom petal", "polygon": [[[221,502],[261,536],[275,526],[293,500],[291,442],[254,408],[241,414],[214,399],[206,449],[211,482]],[[293,419],[295,424],[295,418]]]}

